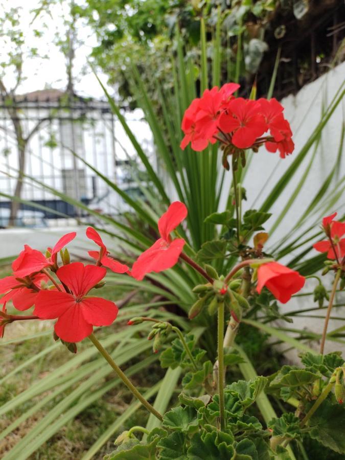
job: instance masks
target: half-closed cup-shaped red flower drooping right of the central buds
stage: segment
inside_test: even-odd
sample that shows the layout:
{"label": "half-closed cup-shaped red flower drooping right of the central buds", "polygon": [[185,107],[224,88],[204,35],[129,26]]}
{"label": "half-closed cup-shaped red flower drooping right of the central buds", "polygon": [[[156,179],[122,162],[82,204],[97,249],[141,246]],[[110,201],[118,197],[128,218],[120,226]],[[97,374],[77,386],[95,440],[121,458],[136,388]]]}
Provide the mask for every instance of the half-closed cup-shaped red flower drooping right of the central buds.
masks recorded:
{"label": "half-closed cup-shaped red flower drooping right of the central buds", "polygon": [[261,292],[264,286],[283,304],[286,304],[295,294],[303,288],[306,279],[298,273],[278,262],[262,264],[258,268],[257,291]]}

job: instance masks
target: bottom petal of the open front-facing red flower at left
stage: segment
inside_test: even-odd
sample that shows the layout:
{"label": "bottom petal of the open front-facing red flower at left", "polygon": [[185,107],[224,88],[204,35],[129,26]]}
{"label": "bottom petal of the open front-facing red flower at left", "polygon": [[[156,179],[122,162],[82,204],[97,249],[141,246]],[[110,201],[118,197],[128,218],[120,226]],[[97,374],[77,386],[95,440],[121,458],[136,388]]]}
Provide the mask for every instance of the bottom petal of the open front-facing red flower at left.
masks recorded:
{"label": "bottom petal of the open front-facing red flower at left", "polygon": [[74,304],[56,321],[54,329],[62,340],[80,342],[91,334],[93,327],[85,320],[82,310],[81,304]]}

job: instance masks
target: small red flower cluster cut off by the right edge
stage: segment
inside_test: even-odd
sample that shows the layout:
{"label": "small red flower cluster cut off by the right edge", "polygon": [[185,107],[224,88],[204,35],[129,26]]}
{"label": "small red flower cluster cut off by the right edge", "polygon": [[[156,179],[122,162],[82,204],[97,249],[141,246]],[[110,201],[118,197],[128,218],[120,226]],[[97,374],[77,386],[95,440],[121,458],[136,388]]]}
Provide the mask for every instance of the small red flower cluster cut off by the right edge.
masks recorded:
{"label": "small red flower cluster cut off by the right edge", "polygon": [[322,226],[328,240],[319,241],[313,245],[319,252],[327,252],[328,259],[342,259],[345,257],[345,223],[333,220],[337,213],[324,217]]}

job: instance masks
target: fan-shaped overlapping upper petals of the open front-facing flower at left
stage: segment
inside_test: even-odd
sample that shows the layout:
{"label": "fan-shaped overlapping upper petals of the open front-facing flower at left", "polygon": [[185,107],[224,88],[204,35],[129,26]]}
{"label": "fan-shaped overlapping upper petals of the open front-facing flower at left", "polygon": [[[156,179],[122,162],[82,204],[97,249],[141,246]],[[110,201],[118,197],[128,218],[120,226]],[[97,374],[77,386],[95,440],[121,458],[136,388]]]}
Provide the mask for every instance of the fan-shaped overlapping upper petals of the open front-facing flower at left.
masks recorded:
{"label": "fan-shaped overlapping upper petals of the open front-facing flower at left", "polygon": [[83,265],[72,262],[56,272],[59,280],[68,286],[76,297],[83,297],[106,275],[106,269],[96,265]]}

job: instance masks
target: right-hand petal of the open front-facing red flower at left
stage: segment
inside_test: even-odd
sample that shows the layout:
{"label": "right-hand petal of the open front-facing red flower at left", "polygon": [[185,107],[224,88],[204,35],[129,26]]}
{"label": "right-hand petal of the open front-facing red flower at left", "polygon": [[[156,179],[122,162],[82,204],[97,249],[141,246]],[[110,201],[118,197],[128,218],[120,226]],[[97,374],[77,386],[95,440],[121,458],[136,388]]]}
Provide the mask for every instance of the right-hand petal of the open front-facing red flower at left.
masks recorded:
{"label": "right-hand petal of the open front-facing red flower at left", "polygon": [[87,323],[94,326],[109,326],[118,316],[118,307],[100,297],[85,297],[79,304]]}

